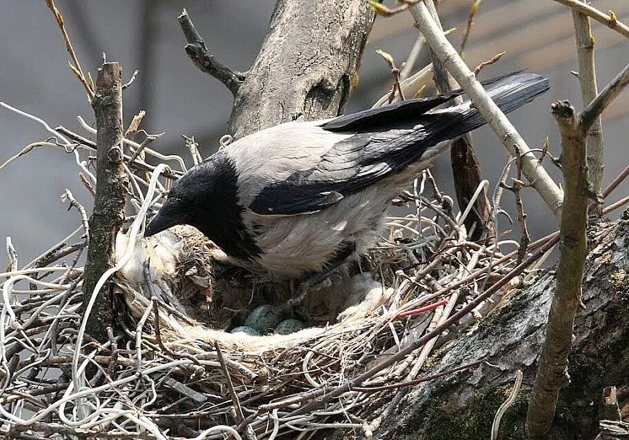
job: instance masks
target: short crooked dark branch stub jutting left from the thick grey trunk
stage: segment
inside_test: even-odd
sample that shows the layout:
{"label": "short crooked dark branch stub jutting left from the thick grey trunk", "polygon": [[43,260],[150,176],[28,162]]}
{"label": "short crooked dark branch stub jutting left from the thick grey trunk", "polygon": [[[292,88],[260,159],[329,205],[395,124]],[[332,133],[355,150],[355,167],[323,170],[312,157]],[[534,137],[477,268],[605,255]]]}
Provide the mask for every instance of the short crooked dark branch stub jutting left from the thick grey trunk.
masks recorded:
{"label": "short crooked dark branch stub jutting left from the thick grey trunk", "polygon": [[186,54],[188,54],[194,66],[197,66],[201,72],[206,72],[221,81],[236,96],[238,89],[245,80],[245,74],[232,70],[210,53],[205,41],[203,41],[203,37],[197,31],[197,28],[194,28],[194,23],[192,23],[188,11],[184,9],[181,15],[177,17],[177,21],[179,21],[179,26],[181,26],[181,30],[186,36],[186,41],[188,41],[185,47]]}

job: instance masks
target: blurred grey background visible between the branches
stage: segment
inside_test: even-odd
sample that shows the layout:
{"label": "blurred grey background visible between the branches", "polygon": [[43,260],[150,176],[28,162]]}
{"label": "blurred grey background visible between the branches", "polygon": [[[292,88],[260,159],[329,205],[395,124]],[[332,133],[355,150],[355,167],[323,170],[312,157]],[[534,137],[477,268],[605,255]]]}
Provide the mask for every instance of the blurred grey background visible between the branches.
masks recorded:
{"label": "blurred grey background visible between the branches", "polygon": [[[246,70],[261,46],[274,5],[272,0],[56,3],[66,19],[83,70],[95,77],[101,52],[106,52],[110,61],[120,61],[126,77],[136,68],[141,70],[125,94],[126,121],[145,109],[148,117],[143,127],[150,132],[166,132],[159,143],[153,144],[154,148],[183,154],[180,135],[188,134],[200,141],[204,156],[214,150],[217,139],[224,134],[232,99],[226,88],[194,68],[186,57],[177,15],[186,7],[214,53],[233,68]],[[444,26],[459,29],[450,37],[457,47],[470,3],[441,1]],[[592,5],[603,11],[615,10],[619,19],[629,22],[626,0],[595,0]],[[0,6],[0,100],[45,119],[51,126],[79,130],[77,114],[91,122],[92,110],[83,89],[68,71],[69,57],[59,28],[43,1],[0,0]],[[629,43],[597,23],[594,33],[602,87],[629,61]],[[375,50],[390,52],[401,63],[416,37],[417,30],[412,28],[408,14],[377,19],[359,72],[361,81],[348,111],[372,106],[388,90],[388,68]],[[511,119],[531,147],[541,146],[548,134],[552,152],[559,154],[559,137],[548,114],[550,103],[567,98],[581,108],[579,86],[570,74],[570,70],[577,70],[570,12],[550,0],[483,1],[472,28],[466,61],[474,67],[503,50],[507,51],[506,56],[483,72],[483,77],[521,68],[550,76],[551,92]],[[419,67],[425,63],[424,52]],[[606,182],[629,163],[627,95],[612,105],[603,120]],[[0,133],[0,163],[26,144],[48,137],[36,123],[3,109]],[[493,186],[503,166],[505,150],[487,128],[477,130],[474,139],[483,171]],[[557,170],[549,170],[559,179]],[[450,191],[448,161],[439,161],[434,173],[441,187]],[[36,256],[77,227],[76,212],[66,212],[67,206],[59,198],[64,188],[72,189],[77,199],[91,208],[91,197],[77,179],[73,158],[63,150],[34,150],[0,172],[0,232],[3,239],[12,237],[21,261]],[[627,191],[628,186],[623,185],[611,199],[619,199]],[[537,194],[528,190],[524,197],[534,237],[553,230],[553,219]],[[503,206],[512,212],[512,196],[508,193],[503,197]]]}

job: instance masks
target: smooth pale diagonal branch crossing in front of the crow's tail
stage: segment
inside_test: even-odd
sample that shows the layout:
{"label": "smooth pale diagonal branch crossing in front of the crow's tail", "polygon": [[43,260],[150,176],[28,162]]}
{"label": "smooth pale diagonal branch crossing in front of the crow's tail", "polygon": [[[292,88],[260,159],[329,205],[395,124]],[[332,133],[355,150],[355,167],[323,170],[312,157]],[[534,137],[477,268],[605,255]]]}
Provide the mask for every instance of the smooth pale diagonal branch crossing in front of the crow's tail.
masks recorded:
{"label": "smooth pale diagonal branch crossing in front of the crow's tail", "polygon": [[[459,82],[461,88],[466,91],[479,113],[486,119],[491,128],[496,132],[503,145],[514,156],[517,151],[522,156],[522,171],[537,190],[541,198],[546,202],[553,214],[561,217],[561,203],[563,192],[557,183],[551,179],[548,172],[539,164],[530,148],[519,135],[512,123],[501,112],[498,106],[491,100],[486,90],[477,81],[476,76],[463,62],[459,54],[450,42],[443,37],[437,23],[430,16],[430,12],[424,3],[419,2],[410,8],[417,27],[426,37],[430,48]],[[517,148],[516,148],[517,147]]]}

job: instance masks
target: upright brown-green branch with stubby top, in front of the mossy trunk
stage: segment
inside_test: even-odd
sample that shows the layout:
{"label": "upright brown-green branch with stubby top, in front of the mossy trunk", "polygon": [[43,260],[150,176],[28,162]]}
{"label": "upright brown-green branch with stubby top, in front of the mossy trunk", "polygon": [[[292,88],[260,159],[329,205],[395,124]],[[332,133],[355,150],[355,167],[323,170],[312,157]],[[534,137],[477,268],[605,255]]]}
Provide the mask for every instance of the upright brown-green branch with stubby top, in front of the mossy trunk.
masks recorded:
{"label": "upright brown-green branch with stubby top, in front of the mossy trunk", "polygon": [[567,380],[568,353],[575,315],[581,301],[581,279],[588,243],[588,179],[586,128],[568,101],[557,101],[551,113],[561,131],[561,160],[565,181],[561,217],[561,257],[557,268],[557,291],[552,298],[546,340],[526,415],[526,430],[533,439],[550,430],[559,389]]}

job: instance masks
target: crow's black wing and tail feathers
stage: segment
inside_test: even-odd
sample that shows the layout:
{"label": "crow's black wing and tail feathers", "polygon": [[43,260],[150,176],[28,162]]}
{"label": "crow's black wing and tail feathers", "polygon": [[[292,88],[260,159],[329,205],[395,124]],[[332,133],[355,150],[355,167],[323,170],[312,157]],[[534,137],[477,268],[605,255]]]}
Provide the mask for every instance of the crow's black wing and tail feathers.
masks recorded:
{"label": "crow's black wing and tail feathers", "polygon": [[[510,112],[548,88],[548,79],[537,74],[520,73],[491,81],[488,92],[503,112]],[[433,107],[439,105],[437,102],[437,99],[430,101]],[[258,214],[280,215],[322,210],[419,161],[426,150],[437,143],[455,139],[485,123],[471,106],[412,114],[405,119],[400,116],[408,114],[405,108],[426,106],[428,100],[404,101],[393,106],[392,112],[400,119],[390,118],[386,111],[373,110],[337,118],[342,121],[332,125],[330,131],[351,131],[355,134],[336,143],[321,157],[317,166],[294,172],[286,180],[263,188],[252,201],[250,209]],[[376,110],[386,108],[388,106]],[[328,124],[335,123],[337,119],[324,123],[322,127],[328,130]],[[380,123],[381,120],[387,122]],[[358,130],[358,127],[361,129]]]}

